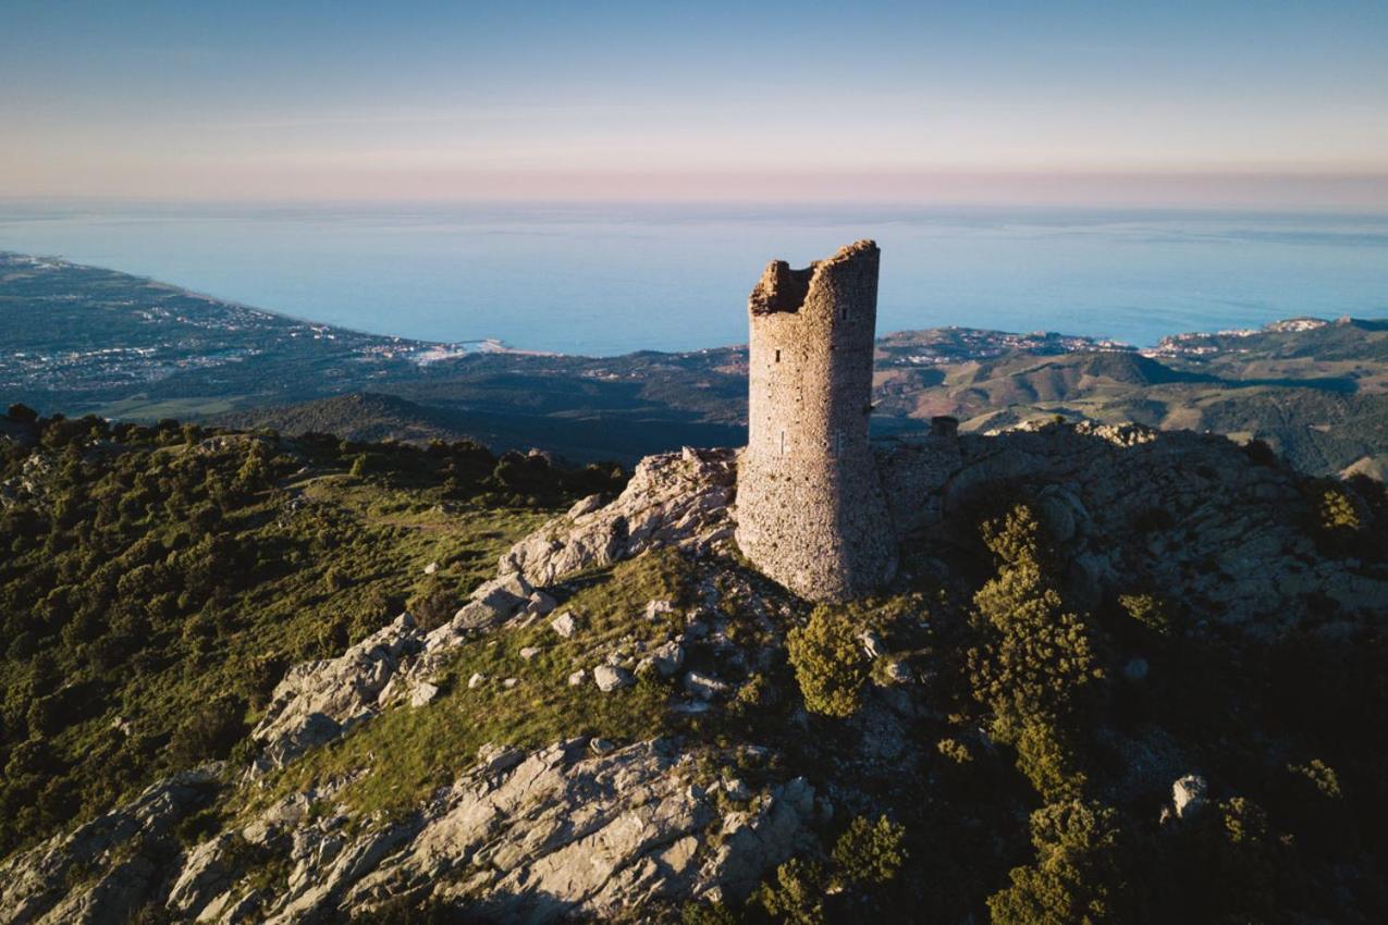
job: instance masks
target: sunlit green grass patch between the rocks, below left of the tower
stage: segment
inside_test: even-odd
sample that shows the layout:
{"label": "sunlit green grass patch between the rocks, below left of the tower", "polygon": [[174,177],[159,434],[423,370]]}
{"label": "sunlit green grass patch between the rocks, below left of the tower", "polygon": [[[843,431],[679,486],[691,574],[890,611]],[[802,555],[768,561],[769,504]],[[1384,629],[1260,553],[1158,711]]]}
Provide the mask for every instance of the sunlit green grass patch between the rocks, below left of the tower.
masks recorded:
{"label": "sunlit green grass patch between the rocks, below left of the tower", "polygon": [[[365,771],[340,799],[358,817],[400,814],[471,767],[489,742],[533,749],[579,735],[626,742],[676,731],[677,720],[666,709],[672,682],[643,677],[630,688],[602,693],[591,668],[613,648],[636,657],[643,646],[682,628],[679,606],[648,620],[645,605],[652,599],[679,605],[688,599],[690,585],[690,567],[668,552],[580,576],[559,589],[572,591],[561,610],[580,621],[573,638],[562,639],[544,619],[465,643],[436,681],[443,692],[432,703],[387,710],[304,754],[253,795],[253,807]],[[526,660],[520,656],[526,648],[540,652]],[[587,668],[590,677],[569,685],[577,668]],[[468,689],[475,673],[486,681]],[[515,678],[515,686],[505,688],[507,678]]]}

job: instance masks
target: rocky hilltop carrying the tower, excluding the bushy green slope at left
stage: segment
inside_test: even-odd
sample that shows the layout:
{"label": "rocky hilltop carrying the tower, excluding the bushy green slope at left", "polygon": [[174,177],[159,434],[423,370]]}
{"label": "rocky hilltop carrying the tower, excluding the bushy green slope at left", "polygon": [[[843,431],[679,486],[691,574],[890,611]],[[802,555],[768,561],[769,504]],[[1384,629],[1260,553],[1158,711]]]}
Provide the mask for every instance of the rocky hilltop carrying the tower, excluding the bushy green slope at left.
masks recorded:
{"label": "rocky hilltop carrying the tower, excluding the bushy green slope at left", "polygon": [[881,596],[751,570],[731,451],[647,458],[12,853],[0,922],[1378,919],[1381,488],[1141,426],[876,452]]}

